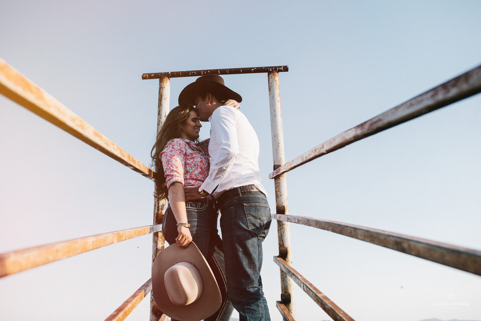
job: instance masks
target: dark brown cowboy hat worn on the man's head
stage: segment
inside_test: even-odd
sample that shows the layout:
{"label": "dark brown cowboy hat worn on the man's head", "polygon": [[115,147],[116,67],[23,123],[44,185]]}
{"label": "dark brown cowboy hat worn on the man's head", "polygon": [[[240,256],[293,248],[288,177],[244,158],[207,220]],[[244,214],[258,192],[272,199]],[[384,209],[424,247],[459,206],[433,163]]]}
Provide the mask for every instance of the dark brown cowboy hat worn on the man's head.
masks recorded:
{"label": "dark brown cowboy hat worn on the man's head", "polygon": [[233,99],[237,103],[242,102],[239,94],[224,85],[224,80],[219,75],[205,75],[197,78],[187,85],[179,95],[179,105],[195,105],[195,99],[203,94],[210,93],[217,100]]}

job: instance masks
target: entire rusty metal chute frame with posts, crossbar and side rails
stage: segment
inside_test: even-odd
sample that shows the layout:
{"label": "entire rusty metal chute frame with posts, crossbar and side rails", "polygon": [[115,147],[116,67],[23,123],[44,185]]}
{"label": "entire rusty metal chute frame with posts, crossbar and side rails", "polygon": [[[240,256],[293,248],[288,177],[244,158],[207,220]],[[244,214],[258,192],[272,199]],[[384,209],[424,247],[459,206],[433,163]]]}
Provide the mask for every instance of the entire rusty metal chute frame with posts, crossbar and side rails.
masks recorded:
{"label": "entire rusty metal chute frame with posts, crossbar and side rails", "polygon": [[[286,163],[278,73],[287,71],[287,66],[277,66],[142,75],[142,79],[159,79],[157,130],[160,130],[169,111],[170,78],[194,77],[213,73],[218,75],[247,73],[268,74],[274,159],[274,171],[270,174],[270,178],[274,179],[276,193],[276,214],[272,214],[272,217],[278,222],[279,238],[279,255],[274,257],[274,261],[280,267],[281,273],[281,300],[277,301],[277,307],[283,319],[295,320],[296,318],[293,290],[294,284],[296,283],[334,320],[353,320],[344,310],[294,269],[291,255],[290,222],[331,231],[481,275],[481,251],[478,250],[348,223],[289,215],[286,180],[286,173],[288,171],[316,158],[367,138],[375,133],[478,94],[481,92],[481,66],[351,128]],[[88,145],[98,149],[107,156],[140,173],[142,176],[149,179],[153,178],[154,172],[149,169],[148,166],[140,163],[126,153],[3,60],[0,60],[0,93],[79,138]],[[150,233],[153,234],[153,260],[164,246],[164,240],[160,233],[160,223],[164,209],[164,202],[155,202],[154,224],[150,226],[131,228],[1,253],[0,277]],[[125,319],[133,308],[150,293],[151,289],[152,283],[149,279],[108,316],[106,320]],[[153,296],[151,295],[150,319],[154,321],[159,319],[167,320],[167,318],[168,316],[166,315],[159,315],[158,310],[155,308]]]}

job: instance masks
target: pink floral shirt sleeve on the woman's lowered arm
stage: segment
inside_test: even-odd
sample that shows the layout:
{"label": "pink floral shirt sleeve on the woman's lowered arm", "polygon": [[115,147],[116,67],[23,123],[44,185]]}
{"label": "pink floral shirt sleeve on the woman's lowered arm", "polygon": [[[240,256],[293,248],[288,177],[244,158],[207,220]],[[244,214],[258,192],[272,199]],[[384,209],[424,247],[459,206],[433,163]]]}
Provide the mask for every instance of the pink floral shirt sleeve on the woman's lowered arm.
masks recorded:
{"label": "pink floral shirt sleeve on the woman's lowered arm", "polygon": [[160,153],[167,188],[173,182],[184,185],[185,146],[181,139],[173,139]]}

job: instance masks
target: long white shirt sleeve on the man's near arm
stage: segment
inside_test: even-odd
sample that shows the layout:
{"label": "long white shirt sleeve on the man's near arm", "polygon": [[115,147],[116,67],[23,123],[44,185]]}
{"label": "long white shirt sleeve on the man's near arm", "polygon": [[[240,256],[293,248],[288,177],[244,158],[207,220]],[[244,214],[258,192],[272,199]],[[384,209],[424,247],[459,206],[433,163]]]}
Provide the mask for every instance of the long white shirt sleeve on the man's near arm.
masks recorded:
{"label": "long white shirt sleeve on the man's near arm", "polygon": [[230,171],[239,152],[234,111],[231,107],[221,106],[210,118],[210,145],[216,152],[210,155],[209,176],[202,183],[202,189],[210,194]]}

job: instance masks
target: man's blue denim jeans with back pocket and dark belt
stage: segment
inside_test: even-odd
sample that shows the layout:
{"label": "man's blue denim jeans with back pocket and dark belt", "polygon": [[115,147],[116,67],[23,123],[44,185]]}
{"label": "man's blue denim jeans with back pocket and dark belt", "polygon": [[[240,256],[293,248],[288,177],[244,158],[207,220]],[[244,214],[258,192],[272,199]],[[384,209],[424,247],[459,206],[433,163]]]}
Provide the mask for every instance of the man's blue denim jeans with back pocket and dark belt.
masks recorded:
{"label": "man's blue denim jeans with back pocket and dark belt", "polygon": [[224,247],[227,290],[240,321],[270,321],[261,280],[262,242],[271,226],[267,197],[247,192],[217,202]]}

